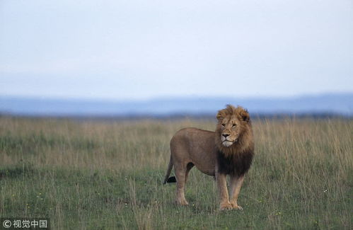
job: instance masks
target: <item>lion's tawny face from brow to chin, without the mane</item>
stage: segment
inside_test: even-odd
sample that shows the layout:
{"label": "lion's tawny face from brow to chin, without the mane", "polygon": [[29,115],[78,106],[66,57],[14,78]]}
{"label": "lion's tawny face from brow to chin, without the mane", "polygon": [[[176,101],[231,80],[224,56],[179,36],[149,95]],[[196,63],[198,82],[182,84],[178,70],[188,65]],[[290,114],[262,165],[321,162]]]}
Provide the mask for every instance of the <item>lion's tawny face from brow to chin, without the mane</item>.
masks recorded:
{"label": "lion's tawny face from brow to chin, without the mane", "polygon": [[238,142],[239,134],[241,133],[241,121],[236,117],[226,117],[221,122],[221,142],[224,146],[231,146]]}

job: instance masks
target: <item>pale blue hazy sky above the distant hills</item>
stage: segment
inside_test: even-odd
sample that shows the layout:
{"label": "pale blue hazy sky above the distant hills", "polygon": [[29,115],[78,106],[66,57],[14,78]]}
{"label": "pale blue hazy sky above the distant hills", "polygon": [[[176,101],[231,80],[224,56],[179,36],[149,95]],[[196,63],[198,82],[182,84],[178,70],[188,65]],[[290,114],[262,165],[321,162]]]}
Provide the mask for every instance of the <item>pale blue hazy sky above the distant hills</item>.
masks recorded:
{"label": "pale blue hazy sky above the distant hills", "polygon": [[353,2],[0,1],[0,96],[353,92]]}

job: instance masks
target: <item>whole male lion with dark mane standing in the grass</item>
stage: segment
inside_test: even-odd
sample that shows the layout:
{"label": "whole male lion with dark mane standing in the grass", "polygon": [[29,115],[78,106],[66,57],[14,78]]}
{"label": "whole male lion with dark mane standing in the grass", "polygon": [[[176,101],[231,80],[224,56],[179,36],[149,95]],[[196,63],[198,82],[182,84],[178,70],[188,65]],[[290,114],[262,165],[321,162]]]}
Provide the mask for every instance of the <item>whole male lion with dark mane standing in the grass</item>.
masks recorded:
{"label": "whole male lion with dark mane standing in the grass", "polygon": [[[216,132],[185,128],[170,140],[170,161],[164,183],[177,182],[176,202],[188,205],[184,184],[193,166],[209,176],[215,176],[219,188],[220,209],[242,209],[238,195],[244,174],[253,160],[254,143],[250,115],[240,106],[227,105],[216,116]],[[175,177],[169,178],[174,166]],[[230,198],[226,176],[230,176]]]}

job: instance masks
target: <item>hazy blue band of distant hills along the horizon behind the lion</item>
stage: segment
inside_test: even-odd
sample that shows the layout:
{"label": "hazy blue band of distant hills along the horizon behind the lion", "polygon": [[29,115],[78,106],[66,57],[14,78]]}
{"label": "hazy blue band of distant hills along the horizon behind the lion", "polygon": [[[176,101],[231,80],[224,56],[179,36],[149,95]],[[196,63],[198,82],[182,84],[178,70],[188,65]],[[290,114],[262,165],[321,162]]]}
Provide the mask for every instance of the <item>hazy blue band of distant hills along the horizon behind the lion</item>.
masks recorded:
{"label": "hazy blue band of distant hills along the horizon behind the lion", "polygon": [[253,114],[353,115],[353,93],[293,98],[159,98],[154,100],[68,100],[0,96],[0,114],[30,116],[214,115],[226,104]]}

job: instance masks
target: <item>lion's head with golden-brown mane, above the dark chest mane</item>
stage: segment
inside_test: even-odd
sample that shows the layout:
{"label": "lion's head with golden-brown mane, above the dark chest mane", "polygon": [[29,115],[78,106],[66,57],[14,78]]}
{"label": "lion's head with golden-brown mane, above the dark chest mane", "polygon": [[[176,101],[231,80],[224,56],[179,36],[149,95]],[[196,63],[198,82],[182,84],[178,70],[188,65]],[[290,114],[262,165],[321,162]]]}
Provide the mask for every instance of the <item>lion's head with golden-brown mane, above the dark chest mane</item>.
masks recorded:
{"label": "lion's head with golden-brown mane, above the dark chest mane", "polygon": [[250,115],[247,110],[238,106],[227,105],[219,110],[216,116],[216,145],[225,154],[241,150],[253,144]]}

